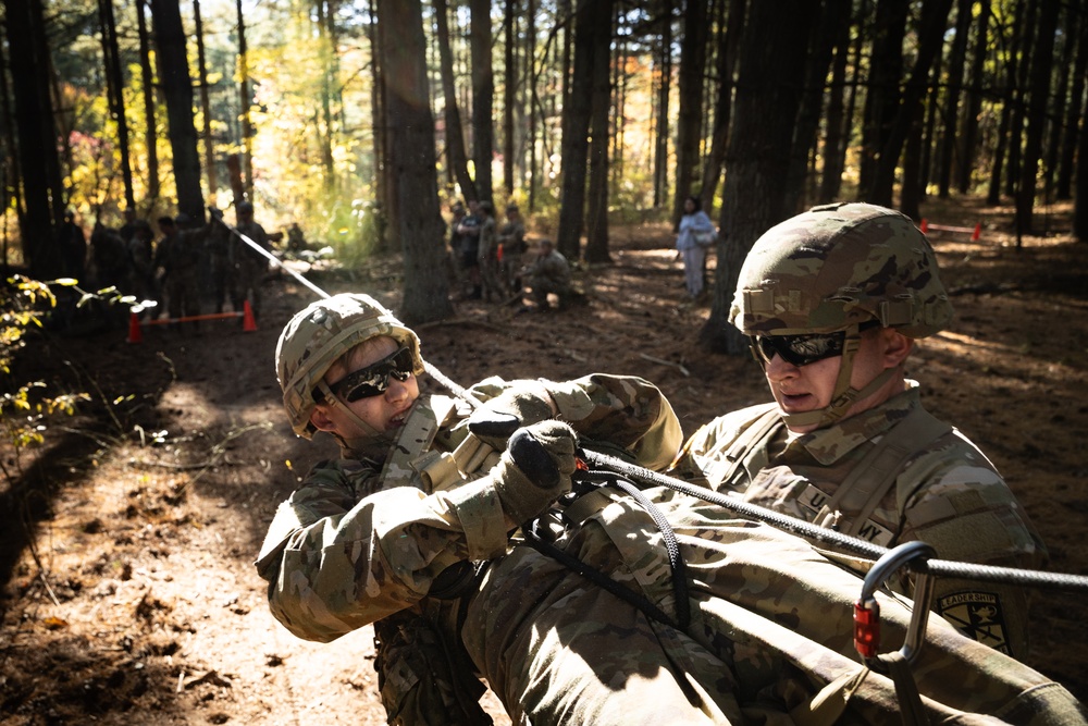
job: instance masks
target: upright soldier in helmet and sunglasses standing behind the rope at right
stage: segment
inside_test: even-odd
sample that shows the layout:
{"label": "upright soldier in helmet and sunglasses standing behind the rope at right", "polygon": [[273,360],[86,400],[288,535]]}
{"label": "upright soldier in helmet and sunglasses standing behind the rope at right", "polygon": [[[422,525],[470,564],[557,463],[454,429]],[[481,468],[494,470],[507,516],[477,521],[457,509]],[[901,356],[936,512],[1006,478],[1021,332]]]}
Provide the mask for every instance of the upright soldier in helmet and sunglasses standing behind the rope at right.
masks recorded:
{"label": "upright soldier in helmet and sunglasses standing behind the rope at right", "polygon": [[[1001,475],[905,378],[914,340],[951,319],[932,248],[903,214],[829,205],[772,227],[741,269],[730,321],[775,403],[704,426],[678,472],[876,544],[922,540],[948,559],[1037,568],[1042,541]],[[934,603],[1023,657],[1028,592],[940,579]]]}

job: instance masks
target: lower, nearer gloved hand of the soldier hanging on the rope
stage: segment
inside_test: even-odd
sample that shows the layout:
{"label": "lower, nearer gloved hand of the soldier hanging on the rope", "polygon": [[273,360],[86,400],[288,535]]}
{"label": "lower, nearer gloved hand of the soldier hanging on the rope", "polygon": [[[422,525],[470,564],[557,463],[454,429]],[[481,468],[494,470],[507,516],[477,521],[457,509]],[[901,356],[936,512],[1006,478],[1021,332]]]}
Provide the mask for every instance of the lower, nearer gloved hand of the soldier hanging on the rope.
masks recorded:
{"label": "lower, nearer gloved hand of the soldier hanging on the rope", "polygon": [[491,470],[503,510],[527,522],[570,491],[578,434],[554,419],[518,429]]}

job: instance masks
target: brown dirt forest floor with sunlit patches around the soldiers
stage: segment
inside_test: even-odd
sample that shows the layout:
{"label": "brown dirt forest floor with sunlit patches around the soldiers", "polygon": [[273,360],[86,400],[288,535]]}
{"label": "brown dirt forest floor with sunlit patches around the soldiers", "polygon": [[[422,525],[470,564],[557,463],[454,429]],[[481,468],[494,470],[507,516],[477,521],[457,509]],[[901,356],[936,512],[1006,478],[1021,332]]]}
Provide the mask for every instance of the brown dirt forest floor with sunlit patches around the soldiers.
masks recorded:
{"label": "brown dirt forest floor with sunlit patches around the soldiers", "polygon": [[[1088,244],[1068,209],[1016,249],[1011,211],[926,209],[957,318],[924,341],[910,373],[926,405],[994,460],[1046,538],[1059,573],[1088,575]],[[532,235],[530,235],[532,236]],[[684,300],[663,226],[614,231],[614,263],[578,273],[589,305],[555,315],[458,303],[423,325],[423,354],[460,383],[485,374],[567,379],[591,371],[658,383],[685,433],[766,401],[755,365],[695,345],[706,306]],[[396,307],[399,268],[311,271],[329,292]],[[42,336],[20,370],[92,395],[47,445],[3,456],[0,481],[0,723],[382,724],[371,632],[295,639],[269,615],[252,567],[272,513],[331,442],[296,439],[280,407],[276,337],[313,294],[264,286],[258,330],[162,327],[127,343]],[[73,383],[74,382],[74,383]],[[843,613],[850,617],[850,613]],[[1030,665],[1088,699],[1088,603],[1037,591]],[[508,723],[491,700],[497,723]]]}

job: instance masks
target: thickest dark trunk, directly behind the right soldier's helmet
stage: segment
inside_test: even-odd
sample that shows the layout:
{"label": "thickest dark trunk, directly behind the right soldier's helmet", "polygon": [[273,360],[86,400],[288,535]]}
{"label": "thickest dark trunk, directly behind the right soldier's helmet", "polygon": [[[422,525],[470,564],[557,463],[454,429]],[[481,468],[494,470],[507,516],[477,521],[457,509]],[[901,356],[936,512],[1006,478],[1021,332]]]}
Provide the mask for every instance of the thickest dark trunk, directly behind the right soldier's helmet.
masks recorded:
{"label": "thickest dark trunk, directly behind the right soldier's helmet", "polygon": [[[744,30],[721,205],[718,269],[710,316],[700,344],[721,353],[747,349],[729,324],[741,264],[761,234],[780,222],[790,143],[804,86],[804,59],[815,9],[808,0],[755,2]],[[781,23],[789,17],[789,23]]]}

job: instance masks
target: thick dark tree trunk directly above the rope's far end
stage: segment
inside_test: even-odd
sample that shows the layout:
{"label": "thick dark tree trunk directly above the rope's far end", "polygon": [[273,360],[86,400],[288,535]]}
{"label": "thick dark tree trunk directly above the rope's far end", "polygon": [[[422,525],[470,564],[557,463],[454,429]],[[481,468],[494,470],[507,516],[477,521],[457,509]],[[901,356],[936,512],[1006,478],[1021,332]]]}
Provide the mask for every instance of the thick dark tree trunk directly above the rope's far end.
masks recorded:
{"label": "thick dark tree trunk directly above the rope's far end", "polygon": [[178,0],[151,0],[156,47],[159,52],[159,79],[166,99],[170,148],[174,159],[177,211],[202,223],[203,196],[200,193],[200,157],[197,131],[193,123],[193,81],[185,52],[185,30]]}

